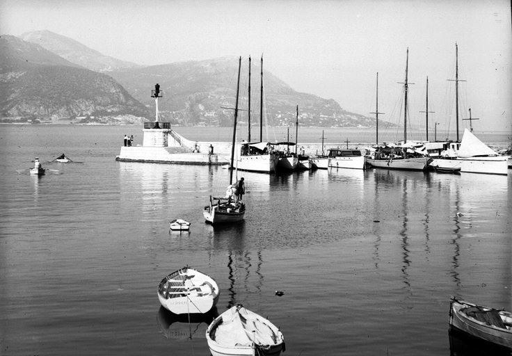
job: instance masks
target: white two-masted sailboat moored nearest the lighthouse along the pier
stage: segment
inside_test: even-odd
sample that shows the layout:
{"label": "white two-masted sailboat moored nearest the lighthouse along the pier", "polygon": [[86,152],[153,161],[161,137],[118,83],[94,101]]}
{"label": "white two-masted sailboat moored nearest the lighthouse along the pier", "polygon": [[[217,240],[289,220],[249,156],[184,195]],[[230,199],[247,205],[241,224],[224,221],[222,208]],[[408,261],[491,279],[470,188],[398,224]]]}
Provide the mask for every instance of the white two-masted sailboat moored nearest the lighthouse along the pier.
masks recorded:
{"label": "white two-masted sailboat moored nearest the lighthouse along the pier", "polygon": [[271,145],[263,142],[263,56],[261,66],[261,90],[259,102],[259,142],[250,140],[250,57],[249,57],[249,90],[248,90],[248,141],[243,141],[237,169],[248,172],[272,173],[278,165],[278,156],[272,152]]}

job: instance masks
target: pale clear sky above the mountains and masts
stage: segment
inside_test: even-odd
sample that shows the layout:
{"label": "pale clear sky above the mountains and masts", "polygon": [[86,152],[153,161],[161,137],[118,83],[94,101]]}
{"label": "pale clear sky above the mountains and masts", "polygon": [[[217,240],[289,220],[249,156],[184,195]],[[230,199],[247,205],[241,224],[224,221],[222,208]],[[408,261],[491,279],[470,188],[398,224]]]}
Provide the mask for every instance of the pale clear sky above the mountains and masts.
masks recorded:
{"label": "pale clear sky above the mountains and masts", "polygon": [[[112,56],[159,65],[248,56],[298,92],[410,124],[512,133],[509,0],[0,0],[0,34],[49,30]],[[512,135],[511,135],[512,136]]]}

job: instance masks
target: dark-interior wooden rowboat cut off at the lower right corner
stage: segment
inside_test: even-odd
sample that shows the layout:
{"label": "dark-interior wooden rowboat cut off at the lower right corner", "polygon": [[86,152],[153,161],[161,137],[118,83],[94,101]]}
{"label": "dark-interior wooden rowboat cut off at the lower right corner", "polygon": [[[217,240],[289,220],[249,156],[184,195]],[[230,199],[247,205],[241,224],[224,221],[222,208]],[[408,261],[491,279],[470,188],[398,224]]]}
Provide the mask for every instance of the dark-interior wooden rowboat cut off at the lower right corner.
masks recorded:
{"label": "dark-interior wooden rowboat cut off at the lower right corner", "polygon": [[483,341],[512,350],[512,313],[450,298],[450,330],[453,328]]}

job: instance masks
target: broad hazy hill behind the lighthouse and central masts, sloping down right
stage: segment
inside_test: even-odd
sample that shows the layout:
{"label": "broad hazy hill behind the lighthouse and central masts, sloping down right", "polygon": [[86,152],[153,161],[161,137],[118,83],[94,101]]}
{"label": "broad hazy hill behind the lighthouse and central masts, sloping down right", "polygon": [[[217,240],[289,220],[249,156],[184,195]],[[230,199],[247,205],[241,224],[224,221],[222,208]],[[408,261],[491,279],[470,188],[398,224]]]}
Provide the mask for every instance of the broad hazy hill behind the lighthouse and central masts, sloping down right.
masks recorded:
{"label": "broad hazy hill behind the lighthouse and central masts, sloping down right", "polygon": [[[238,72],[237,57],[187,61],[144,68],[115,70],[113,78],[138,101],[154,108],[151,90],[159,83],[163,121],[184,125],[228,126],[232,123]],[[248,62],[242,64],[239,107],[248,108]],[[259,63],[251,66],[251,125],[259,124]],[[272,126],[293,126],[296,106],[299,124],[315,127],[374,127],[375,119],[345,111],[333,99],[296,92],[277,76],[264,70],[264,118]],[[247,122],[241,112],[241,124]],[[265,119],[264,119],[265,120]],[[265,122],[265,121],[264,121]]]}

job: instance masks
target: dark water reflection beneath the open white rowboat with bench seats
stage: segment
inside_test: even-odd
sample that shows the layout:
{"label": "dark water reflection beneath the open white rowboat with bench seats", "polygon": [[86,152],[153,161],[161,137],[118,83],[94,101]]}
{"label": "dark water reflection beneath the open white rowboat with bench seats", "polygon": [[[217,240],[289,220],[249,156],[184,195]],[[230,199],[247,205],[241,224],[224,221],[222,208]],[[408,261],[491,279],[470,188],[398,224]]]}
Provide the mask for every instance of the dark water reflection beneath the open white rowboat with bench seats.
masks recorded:
{"label": "dark water reflection beneath the open white rowboat with bench seats", "polygon": [[157,313],[157,323],[160,333],[166,339],[205,339],[208,325],[218,315],[217,307],[206,314],[182,315],[171,313],[166,308],[160,307]]}

